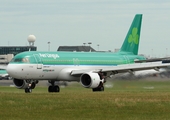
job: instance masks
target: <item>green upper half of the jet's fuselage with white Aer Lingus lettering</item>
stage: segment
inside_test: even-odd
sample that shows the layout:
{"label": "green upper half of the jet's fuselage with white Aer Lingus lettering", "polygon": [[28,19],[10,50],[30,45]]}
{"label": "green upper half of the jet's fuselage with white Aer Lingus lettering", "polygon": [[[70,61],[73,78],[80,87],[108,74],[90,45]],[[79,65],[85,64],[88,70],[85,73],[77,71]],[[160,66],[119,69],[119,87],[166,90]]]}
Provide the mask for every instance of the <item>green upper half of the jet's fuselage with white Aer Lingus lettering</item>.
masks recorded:
{"label": "green upper half of the jet's fuselage with white Aer Lingus lettering", "polygon": [[[39,57],[39,58],[37,58]],[[28,58],[29,62],[15,61]],[[118,65],[134,63],[134,60],[143,60],[143,56],[132,53],[110,52],[23,52],[14,57],[10,63],[39,63],[44,65]]]}

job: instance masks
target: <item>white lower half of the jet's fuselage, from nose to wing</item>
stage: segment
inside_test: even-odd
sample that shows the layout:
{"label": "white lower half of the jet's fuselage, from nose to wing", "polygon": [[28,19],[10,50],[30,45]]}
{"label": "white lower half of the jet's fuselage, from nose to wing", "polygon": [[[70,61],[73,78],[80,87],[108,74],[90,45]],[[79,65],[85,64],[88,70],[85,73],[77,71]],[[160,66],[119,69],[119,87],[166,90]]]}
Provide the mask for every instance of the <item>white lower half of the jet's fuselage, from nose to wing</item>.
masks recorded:
{"label": "white lower half of the jet's fuselage, from nose to wing", "polygon": [[100,68],[100,66],[9,64],[7,72],[11,77],[22,80],[79,81],[80,76],[70,75],[72,70],[94,68]]}

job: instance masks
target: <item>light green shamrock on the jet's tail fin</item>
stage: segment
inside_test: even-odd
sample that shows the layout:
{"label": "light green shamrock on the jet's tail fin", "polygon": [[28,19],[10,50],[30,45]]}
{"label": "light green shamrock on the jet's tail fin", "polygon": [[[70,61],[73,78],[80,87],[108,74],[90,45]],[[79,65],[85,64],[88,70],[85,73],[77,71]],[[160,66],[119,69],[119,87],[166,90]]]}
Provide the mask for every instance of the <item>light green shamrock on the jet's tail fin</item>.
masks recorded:
{"label": "light green shamrock on the jet's tail fin", "polygon": [[137,34],[137,32],[138,32],[138,29],[134,27],[132,29],[132,34],[129,35],[128,42],[131,44],[131,46],[133,43],[134,44],[139,43],[139,35]]}

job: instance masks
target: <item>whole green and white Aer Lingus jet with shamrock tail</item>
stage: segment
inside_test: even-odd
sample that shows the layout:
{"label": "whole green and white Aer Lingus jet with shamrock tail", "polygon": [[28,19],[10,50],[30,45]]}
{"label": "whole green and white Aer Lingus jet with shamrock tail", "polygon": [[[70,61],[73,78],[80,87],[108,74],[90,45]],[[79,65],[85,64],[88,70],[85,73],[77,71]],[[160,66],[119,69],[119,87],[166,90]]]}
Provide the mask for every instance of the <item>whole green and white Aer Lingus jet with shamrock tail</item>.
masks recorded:
{"label": "whole green and white Aer Lingus jet with shamrock tail", "polygon": [[104,91],[111,75],[147,69],[166,68],[169,63],[135,63],[138,55],[142,14],[136,14],[121,49],[111,52],[28,51],[17,54],[8,64],[13,83],[31,93],[40,80],[51,84],[48,92],[60,92],[55,81],[77,81],[92,91]]}

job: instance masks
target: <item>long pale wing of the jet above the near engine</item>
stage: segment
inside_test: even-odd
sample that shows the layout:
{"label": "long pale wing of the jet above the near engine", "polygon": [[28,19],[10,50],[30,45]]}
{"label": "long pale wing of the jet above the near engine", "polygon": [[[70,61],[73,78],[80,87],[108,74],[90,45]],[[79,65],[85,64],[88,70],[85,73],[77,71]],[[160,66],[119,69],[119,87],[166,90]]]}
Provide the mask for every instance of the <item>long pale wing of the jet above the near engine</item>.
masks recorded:
{"label": "long pale wing of the jet above the near engine", "polygon": [[155,69],[159,70],[160,68],[168,68],[170,63],[162,62],[149,62],[149,63],[133,63],[133,64],[123,64],[112,67],[101,67],[97,69],[84,69],[84,70],[72,70],[71,75],[81,75],[85,72],[112,72],[113,74],[125,73],[125,72],[134,72],[140,70]]}

